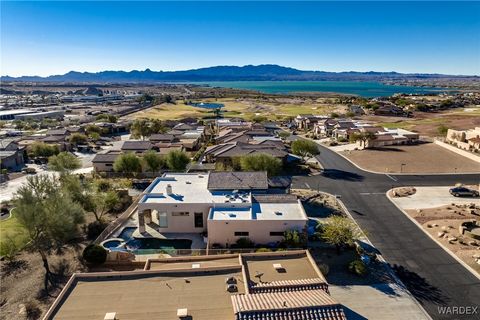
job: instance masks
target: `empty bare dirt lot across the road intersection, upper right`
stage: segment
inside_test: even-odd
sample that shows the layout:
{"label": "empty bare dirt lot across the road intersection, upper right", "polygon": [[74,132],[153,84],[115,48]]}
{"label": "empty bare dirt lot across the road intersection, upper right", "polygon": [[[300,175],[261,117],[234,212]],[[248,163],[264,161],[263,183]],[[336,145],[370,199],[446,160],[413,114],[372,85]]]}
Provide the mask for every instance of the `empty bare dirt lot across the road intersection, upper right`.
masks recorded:
{"label": "empty bare dirt lot across the road intersection, upper right", "polygon": [[[341,152],[361,168],[386,173],[480,172],[478,162],[433,143]],[[402,166],[402,163],[405,165]],[[400,169],[400,167],[403,167]]]}

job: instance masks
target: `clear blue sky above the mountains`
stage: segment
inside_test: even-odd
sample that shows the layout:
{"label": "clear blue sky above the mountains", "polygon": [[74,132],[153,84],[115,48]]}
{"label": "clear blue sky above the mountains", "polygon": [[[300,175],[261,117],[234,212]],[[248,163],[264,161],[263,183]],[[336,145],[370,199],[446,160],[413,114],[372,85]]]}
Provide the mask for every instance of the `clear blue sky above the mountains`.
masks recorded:
{"label": "clear blue sky above the mountains", "polygon": [[2,75],[274,63],[480,74],[479,2],[13,2]]}

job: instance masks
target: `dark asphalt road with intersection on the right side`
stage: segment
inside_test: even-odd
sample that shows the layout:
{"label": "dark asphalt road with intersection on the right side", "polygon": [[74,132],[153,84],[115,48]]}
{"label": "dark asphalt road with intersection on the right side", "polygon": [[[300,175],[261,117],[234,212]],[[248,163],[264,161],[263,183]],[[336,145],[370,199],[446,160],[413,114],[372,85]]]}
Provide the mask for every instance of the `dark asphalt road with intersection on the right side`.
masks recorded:
{"label": "dark asphalt road with intersection on the right side", "polygon": [[[318,160],[324,173],[296,176],[293,187],[340,195],[372,243],[433,319],[480,319],[480,281],[385,196],[396,186],[478,184],[480,173],[387,176],[360,170],[326,147],[320,146],[320,151]],[[439,307],[477,307],[477,311],[474,315],[442,315]]]}

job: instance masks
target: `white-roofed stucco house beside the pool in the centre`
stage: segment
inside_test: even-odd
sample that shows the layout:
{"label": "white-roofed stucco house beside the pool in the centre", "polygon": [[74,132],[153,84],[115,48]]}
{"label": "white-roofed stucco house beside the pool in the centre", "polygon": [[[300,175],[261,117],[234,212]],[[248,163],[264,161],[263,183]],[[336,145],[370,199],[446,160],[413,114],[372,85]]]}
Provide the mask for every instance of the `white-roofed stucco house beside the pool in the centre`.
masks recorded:
{"label": "white-roofed stucco house beside the pool in the centre", "polygon": [[138,203],[138,231],[207,233],[208,244],[228,247],[239,238],[281,241],[304,231],[308,218],[291,194],[270,194],[266,172],[168,173]]}

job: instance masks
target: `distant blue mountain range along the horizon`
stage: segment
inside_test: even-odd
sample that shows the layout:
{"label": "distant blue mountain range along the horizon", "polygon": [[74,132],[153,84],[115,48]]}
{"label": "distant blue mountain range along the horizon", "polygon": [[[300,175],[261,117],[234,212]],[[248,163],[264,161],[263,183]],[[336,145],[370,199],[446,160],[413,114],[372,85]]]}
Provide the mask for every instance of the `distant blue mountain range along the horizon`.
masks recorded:
{"label": "distant blue mountain range along the horizon", "polygon": [[479,76],[452,76],[444,74],[405,74],[398,72],[326,72],[304,71],[273,64],[238,66],[216,66],[185,71],[70,71],[63,75],[48,77],[2,76],[1,81],[22,82],[92,82],[92,83],[155,83],[168,81],[322,81],[322,80],[420,80],[420,79],[480,79]]}

